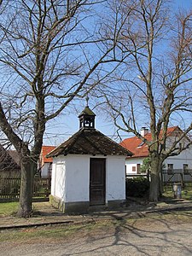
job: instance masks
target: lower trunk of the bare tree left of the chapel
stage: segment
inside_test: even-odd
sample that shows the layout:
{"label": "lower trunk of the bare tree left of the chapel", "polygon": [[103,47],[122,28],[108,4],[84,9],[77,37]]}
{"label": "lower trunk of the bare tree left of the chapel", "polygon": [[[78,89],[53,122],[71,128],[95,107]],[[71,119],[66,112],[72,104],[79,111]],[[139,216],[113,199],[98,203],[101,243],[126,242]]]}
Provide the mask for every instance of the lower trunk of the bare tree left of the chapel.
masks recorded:
{"label": "lower trunk of the bare tree left of the chapel", "polygon": [[20,206],[17,216],[20,218],[28,218],[32,215],[32,193],[33,193],[33,177],[34,167],[30,157],[30,152],[26,148],[20,157],[21,173],[20,173]]}

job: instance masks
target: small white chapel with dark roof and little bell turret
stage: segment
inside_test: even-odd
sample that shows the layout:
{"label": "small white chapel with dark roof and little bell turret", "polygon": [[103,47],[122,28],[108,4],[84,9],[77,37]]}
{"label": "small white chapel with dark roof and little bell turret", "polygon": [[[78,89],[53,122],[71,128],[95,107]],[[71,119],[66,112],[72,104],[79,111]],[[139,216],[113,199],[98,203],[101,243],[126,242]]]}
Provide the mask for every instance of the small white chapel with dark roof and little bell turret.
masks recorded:
{"label": "small white chapel with dark roof and little bell turret", "polygon": [[64,212],[117,207],[125,201],[125,157],[131,152],[95,129],[89,107],[79,123],[79,131],[47,155],[53,157],[50,201]]}

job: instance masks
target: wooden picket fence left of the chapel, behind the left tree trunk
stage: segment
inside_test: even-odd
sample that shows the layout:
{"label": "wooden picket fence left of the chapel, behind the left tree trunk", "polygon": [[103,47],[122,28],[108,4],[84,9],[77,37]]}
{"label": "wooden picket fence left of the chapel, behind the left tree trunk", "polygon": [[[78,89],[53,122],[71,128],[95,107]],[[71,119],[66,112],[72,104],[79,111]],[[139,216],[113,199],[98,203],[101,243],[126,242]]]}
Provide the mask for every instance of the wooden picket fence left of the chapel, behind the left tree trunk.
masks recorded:
{"label": "wooden picket fence left of the chapel, behind the left tree trunk", "polygon": [[[34,177],[33,198],[47,198],[50,194],[50,177]],[[20,177],[0,177],[0,201],[19,200]]]}

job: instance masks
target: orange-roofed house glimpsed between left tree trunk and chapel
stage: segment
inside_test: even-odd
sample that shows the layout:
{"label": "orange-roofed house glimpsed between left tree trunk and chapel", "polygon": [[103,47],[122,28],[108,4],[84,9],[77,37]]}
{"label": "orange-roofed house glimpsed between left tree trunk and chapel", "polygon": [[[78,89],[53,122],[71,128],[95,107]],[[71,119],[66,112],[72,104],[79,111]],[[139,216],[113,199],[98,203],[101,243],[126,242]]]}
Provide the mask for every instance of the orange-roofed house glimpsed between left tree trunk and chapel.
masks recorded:
{"label": "orange-roofed house glimpsed between left tree trunk and chapel", "polygon": [[42,146],[38,161],[38,172],[41,177],[51,177],[53,159],[46,158],[46,154],[55,149],[55,146]]}

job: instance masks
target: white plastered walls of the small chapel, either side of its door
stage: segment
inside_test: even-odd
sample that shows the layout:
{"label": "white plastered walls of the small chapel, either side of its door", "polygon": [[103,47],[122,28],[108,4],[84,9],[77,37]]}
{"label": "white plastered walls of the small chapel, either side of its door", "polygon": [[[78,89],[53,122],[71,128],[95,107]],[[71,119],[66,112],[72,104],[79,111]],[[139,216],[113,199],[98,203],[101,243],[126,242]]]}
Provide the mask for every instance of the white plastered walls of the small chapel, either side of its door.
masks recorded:
{"label": "white plastered walls of the small chapel, either side of its door", "polygon": [[[94,157],[67,155],[53,160],[51,195],[64,203],[65,212],[90,207],[90,158]],[[113,207],[125,201],[125,157],[96,158],[106,158],[106,205]]]}

